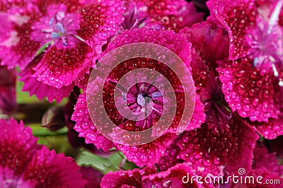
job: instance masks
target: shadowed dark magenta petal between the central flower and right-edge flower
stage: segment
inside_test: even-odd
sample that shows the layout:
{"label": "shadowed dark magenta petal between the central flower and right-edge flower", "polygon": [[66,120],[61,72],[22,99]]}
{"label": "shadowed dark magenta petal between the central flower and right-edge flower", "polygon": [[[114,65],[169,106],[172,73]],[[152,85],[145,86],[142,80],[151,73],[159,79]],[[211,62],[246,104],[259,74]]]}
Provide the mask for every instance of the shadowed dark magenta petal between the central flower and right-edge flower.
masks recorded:
{"label": "shadowed dark magenta petal between the central flower and right-edge flower", "polygon": [[217,76],[214,70],[216,60],[228,56],[228,36],[222,29],[207,22],[196,23],[192,28],[180,30],[180,33],[194,46],[191,67],[197,93],[202,101],[210,99],[214,95],[211,90],[216,90],[211,81]]}

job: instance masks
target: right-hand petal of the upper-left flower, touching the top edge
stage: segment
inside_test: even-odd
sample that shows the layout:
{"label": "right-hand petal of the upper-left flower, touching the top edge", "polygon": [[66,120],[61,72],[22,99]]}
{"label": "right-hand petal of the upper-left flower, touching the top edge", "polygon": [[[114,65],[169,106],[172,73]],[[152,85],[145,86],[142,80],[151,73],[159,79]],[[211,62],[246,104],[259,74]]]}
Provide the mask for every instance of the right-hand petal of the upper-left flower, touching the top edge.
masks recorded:
{"label": "right-hand petal of the upper-left flower, touching the top edge", "polygon": [[[86,1],[87,2],[87,1]],[[81,23],[78,35],[96,47],[96,52],[102,52],[102,45],[108,37],[114,35],[118,25],[123,21],[125,8],[122,1],[99,1],[98,4],[86,3],[81,9]]]}

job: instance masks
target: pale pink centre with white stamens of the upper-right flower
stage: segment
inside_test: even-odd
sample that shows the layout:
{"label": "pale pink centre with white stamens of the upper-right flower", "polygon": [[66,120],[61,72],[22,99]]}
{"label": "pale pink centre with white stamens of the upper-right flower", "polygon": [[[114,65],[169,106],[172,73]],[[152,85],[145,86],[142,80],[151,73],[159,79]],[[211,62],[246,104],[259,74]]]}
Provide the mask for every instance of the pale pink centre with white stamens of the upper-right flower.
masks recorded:
{"label": "pale pink centre with white stamens of the upper-right flower", "polygon": [[248,54],[254,59],[253,66],[260,69],[262,74],[271,72],[283,86],[278,71],[283,68],[283,35],[279,27],[279,13],[283,1],[280,0],[270,16],[270,20],[258,18],[257,24],[248,28],[246,42],[250,47]]}

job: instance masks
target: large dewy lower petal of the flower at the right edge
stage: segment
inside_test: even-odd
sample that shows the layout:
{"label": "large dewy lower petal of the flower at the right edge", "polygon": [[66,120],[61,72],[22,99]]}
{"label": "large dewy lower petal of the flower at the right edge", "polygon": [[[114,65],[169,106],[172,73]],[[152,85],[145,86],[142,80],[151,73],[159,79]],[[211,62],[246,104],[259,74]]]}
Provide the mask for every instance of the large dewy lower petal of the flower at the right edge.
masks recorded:
{"label": "large dewy lower petal of the flower at the right edge", "polygon": [[233,112],[252,122],[268,122],[281,114],[277,102],[279,85],[273,75],[261,75],[251,59],[219,62],[219,78],[226,101]]}

